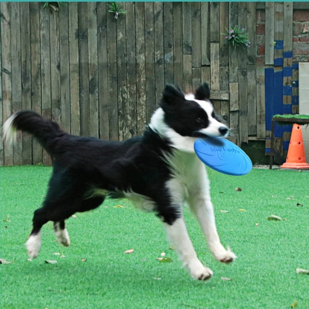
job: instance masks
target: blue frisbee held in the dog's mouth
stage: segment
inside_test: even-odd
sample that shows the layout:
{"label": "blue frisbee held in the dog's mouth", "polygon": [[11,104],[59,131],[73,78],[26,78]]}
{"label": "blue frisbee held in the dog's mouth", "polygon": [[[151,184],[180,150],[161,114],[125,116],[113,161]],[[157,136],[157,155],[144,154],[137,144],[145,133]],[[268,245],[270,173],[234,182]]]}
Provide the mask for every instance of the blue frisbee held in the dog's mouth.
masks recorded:
{"label": "blue frisbee held in the dog's mouth", "polygon": [[220,173],[241,176],[252,169],[248,155],[225,138],[199,138],[194,142],[194,151],[204,164]]}

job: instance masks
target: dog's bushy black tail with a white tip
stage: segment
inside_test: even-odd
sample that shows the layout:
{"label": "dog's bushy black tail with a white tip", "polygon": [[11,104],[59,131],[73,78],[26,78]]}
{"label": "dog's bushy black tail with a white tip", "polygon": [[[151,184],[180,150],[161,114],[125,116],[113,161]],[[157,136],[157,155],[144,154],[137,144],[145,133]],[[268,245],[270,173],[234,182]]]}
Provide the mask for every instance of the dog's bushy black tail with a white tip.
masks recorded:
{"label": "dog's bushy black tail with a white tip", "polygon": [[67,134],[60,129],[56,122],[45,120],[41,115],[33,111],[16,112],[3,124],[3,138],[7,142],[12,142],[16,138],[18,131],[33,135],[49,154],[51,154],[51,146],[55,138]]}

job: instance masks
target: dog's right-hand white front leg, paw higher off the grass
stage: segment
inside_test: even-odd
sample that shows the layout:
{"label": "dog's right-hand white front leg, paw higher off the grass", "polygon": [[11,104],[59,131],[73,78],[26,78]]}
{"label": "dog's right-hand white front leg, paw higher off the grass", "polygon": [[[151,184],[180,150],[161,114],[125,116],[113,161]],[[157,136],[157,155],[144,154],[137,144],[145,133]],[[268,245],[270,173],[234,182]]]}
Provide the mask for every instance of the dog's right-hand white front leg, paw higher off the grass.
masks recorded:
{"label": "dog's right-hand white front leg, paw higher off the grass", "polygon": [[195,193],[189,205],[200,223],[210,251],[216,260],[223,263],[230,263],[235,260],[236,256],[230,248],[226,250],[220,242],[214,218],[214,209],[210,197],[201,196],[201,193]]}

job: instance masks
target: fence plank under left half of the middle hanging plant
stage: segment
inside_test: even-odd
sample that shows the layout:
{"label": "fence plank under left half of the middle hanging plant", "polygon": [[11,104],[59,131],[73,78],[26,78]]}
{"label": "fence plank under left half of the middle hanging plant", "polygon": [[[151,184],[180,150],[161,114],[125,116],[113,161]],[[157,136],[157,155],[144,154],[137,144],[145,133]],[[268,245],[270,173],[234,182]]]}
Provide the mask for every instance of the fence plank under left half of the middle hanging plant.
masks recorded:
{"label": "fence plank under left half of the middle hanging plant", "polygon": [[116,21],[110,12],[106,17],[109,139],[115,141],[118,140]]}

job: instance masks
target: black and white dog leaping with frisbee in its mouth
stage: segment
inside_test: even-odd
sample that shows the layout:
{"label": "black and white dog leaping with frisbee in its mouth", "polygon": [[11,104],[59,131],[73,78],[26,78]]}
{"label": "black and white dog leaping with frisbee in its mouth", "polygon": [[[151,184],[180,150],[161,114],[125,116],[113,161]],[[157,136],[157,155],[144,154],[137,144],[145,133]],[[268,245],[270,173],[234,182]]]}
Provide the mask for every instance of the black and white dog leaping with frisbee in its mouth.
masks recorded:
{"label": "black and white dog leaping with frisbee in its mouth", "polygon": [[40,251],[43,224],[53,221],[58,241],[69,246],[65,220],[76,212],[95,209],[105,197],[111,197],[128,198],[138,208],[154,211],[193,278],[206,280],[213,272],[202,265],[189,239],[185,203],[200,223],[214,257],[224,263],[233,261],[235,254],[220,243],[205,166],[193,149],[198,137],[228,134],[209,97],[207,83],[195,95],[184,95],[167,85],[144,134],[123,142],[70,135],[33,111],[10,116],[3,125],[5,138],[12,140],[19,130],[28,132],[53,160],[47,196],[34,212],[26,242],[29,256],[35,258]]}

